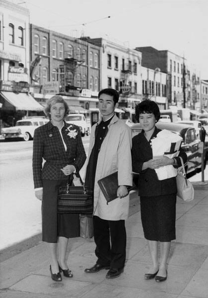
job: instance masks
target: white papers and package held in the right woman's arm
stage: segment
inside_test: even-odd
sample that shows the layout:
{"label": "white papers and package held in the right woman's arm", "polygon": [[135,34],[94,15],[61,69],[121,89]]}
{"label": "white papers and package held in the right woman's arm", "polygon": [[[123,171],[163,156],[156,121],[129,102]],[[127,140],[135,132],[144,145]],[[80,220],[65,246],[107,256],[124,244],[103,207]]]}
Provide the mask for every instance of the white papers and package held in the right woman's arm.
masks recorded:
{"label": "white papers and package held in the right woman's arm", "polygon": [[[151,140],[152,155],[154,158],[162,158],[163,155],[173,158],[180,152],[183,138],[164,129],[157,134],[157,137]],[[172,165],[166,165],[155,169],[159,180],[168,179],[177,176],[177,169]]]}

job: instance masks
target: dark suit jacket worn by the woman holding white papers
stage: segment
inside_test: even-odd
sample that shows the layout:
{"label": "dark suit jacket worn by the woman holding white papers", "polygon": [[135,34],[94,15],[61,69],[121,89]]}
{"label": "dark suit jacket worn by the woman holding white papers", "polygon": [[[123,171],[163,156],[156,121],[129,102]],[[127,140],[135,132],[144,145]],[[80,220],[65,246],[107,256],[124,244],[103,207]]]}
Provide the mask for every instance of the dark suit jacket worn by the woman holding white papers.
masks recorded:
{"label": "dark suit jacket worn by the woman holding white papers", "polygon": [[[155,127],[155,130],[150,140],[157,136],[161,130]],[[179,156],[183,158],[184,163],[187,161],[187,155],[185,152],[180,151]],[[139,196],[159,196],[168,195],[177,192],[175,177],[165,180],[158,180],[155,170],[147,168],[142,169],[144,161],[152,159],[152,149],[150,141],[148,142],[142,131],[132,140],[132,166],[133,171],[139,173]],[[181,161],[179,157],[176,157],[179,167]]]}

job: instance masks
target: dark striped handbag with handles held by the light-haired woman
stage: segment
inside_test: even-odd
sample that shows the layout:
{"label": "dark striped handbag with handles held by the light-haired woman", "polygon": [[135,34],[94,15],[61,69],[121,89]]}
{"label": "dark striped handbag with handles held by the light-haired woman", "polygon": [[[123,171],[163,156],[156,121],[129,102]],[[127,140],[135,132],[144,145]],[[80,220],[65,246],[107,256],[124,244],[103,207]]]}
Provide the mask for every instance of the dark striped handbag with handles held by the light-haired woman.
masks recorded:
{"label": "dark striped handbag with handles held by the light-haired woman", "polygon": [[58,213],[93,213],[93,191],[89,187],[84,186],[79,174],[78,177],[81,186],[70,186],[68,181],[66,186],[59,188]]}

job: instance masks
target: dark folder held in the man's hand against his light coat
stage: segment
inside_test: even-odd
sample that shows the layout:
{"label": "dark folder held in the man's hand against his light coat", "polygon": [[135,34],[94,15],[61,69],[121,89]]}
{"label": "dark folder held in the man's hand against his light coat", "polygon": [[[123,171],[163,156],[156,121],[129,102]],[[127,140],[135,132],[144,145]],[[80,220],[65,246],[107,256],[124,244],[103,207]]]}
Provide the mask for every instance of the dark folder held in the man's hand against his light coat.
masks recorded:
{"label": "dark folder held in the man's hand against his light coat", "polygon": [[[97,182],[104,197],[106,198],[107,204],[108,202],[118,198],[117,196],[117,190],[119,188],[118,171],[98,180]],[[127,188],[128,188],[128,191],[133,190],[135,188],[135,185],[127,186]]]}

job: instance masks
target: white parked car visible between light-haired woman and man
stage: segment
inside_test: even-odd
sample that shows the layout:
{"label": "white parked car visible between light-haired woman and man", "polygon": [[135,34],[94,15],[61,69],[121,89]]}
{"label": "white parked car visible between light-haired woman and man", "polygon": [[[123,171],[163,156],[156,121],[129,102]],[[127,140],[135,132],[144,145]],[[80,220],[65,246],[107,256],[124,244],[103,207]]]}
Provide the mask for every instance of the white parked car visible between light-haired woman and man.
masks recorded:
{"label": "white parked car visible between light-haired woman and man", "polygon": [[66,117],[66,122],[69,124],[75,124],[79,127],[81,136],[84,137],[85,134],[89,136],[91,131],[91,126],[87,123],[86,118],[83,114],[69,114]]}

